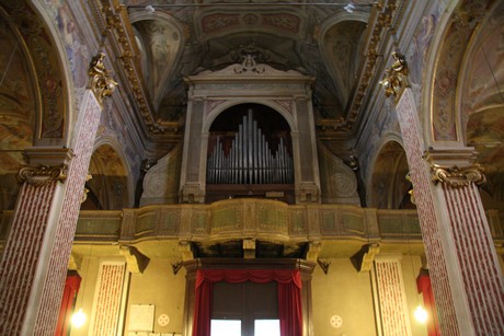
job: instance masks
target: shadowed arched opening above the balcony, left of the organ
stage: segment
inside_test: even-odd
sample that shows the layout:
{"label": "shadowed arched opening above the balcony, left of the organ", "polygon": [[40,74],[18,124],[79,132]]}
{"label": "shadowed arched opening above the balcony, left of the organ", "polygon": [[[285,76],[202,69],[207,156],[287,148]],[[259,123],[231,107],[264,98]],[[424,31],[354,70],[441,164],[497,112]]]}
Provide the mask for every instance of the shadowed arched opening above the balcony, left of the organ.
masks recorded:
{"label": "shadowed arched opening above the balcony, left of the organ", "polygon": [[89,173],[92,178],[85,183],[88,197],[81,209],[121,210],[133,206],[133,181],[119,146],[102,139],[91,155]]}

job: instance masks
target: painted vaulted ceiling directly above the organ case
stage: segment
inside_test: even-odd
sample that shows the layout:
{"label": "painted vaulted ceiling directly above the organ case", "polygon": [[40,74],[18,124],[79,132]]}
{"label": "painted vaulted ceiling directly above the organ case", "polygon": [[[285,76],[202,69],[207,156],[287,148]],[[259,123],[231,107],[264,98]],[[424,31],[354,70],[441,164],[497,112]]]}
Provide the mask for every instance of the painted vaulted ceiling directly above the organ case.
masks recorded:
{"label": "painted vaulted ceiling directly above the organ case", "polygon": [[[363,67],[358,57],[366,31],[363,18],[369,15],[371,2],[358,1],[359,14],[353,16],[343,2],[329,1],[225,1],[229,7],[211,5],[211,1],[197,7],[128,1],[139,49],[145,51],[154,118],[176,121],[183,117],[184,77],[241,62],[245,55],[278,70],[317,77],[313,102],[318,117],[345,118]],[[328,20],[342,14],[345,20],[321,32]]]}

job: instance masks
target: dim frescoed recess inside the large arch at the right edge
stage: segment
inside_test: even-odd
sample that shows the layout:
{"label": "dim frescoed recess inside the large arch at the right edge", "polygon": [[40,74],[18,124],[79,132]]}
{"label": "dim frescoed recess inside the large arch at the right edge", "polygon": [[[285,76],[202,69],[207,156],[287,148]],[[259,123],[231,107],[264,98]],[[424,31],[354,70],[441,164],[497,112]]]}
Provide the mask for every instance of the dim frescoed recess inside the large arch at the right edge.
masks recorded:
{"label": "dim frescoed recess inside the large arch at the right edge", "polygon": [[457,86],[462,140],[478,152],[486,209],[504,207],[504,3],[482,21],[467,47]]}

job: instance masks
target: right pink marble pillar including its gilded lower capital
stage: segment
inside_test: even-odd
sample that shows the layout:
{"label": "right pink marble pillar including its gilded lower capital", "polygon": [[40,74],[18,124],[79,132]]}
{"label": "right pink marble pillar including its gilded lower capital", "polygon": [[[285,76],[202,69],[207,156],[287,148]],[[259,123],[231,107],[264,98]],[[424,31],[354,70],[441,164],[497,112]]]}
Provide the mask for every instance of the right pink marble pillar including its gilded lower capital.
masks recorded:
{"label": "right pink marble pillar including its gilded lower capital", "polygon": [[504,335],[504,280],[471,149],[427,149],[411,89],[397,113],[443,335]]}

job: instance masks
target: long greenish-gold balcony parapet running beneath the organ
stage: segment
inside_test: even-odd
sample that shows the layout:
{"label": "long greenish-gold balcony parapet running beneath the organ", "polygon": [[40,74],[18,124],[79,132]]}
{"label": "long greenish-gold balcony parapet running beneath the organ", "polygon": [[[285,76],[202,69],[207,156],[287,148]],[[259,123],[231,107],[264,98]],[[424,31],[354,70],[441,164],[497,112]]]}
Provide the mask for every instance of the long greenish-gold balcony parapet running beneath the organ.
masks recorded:
{"label": "long greenish-gold balcony parapet running beneath the organ", "polygon": [[[492,235],[502,244],[502,211],[486,213]],[[0,246],[12,216],[12,211],[0,213]],[[420,242],[422,239],[416,210],[229,199],[210,205],[81,211],[75,241],[133,244],[149,240],[218,242],[242,237],[293,243],[340,239]]]}

